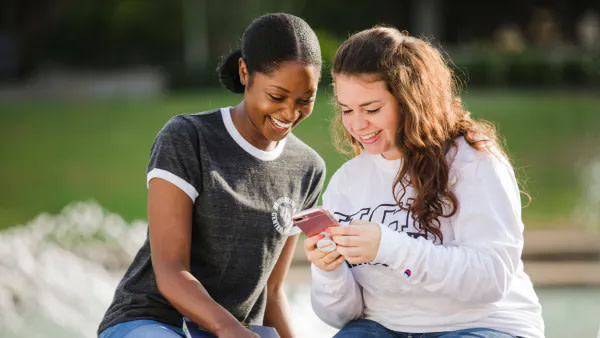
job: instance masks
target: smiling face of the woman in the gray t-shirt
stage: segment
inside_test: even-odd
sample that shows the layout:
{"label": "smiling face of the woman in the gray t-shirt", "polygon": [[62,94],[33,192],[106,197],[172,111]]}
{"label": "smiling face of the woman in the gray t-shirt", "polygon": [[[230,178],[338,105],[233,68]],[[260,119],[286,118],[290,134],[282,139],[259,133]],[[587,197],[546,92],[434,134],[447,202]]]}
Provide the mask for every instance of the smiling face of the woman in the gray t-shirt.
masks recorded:
{"label": "smiling face of the woman in the gray t-shirt", "polygon": [[[270,150],[312,113],[320,69],[297,61],[283,62],[271,74],[250,75],[240,60],[240,78],[246,85],[247,121],[242,135],[260,149]],[[245,132],[244,132],[245,131]]]}

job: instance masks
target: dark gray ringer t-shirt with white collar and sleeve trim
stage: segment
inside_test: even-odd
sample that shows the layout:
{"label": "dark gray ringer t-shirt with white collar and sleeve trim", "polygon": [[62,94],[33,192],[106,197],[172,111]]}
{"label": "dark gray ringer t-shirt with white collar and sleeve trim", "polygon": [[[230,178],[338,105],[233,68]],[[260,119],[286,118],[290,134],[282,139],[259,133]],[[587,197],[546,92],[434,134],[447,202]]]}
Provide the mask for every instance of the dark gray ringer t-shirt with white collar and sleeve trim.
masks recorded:
{"label": "dark gray ringer t-shirt with white collar and sleeve trim", "polygon": [[[275,150],[248,143],[229,108],[179,115],[158,133],[147,179],[165,179],[194,201],[191,273],[238,320],[262,324],[266,283],[288,236],[290,216],[313,206],[325,164],[290,134]],[[181,314],[158,292],[148,239],[119,283],[98,332],[154,319],[181,325]]]}

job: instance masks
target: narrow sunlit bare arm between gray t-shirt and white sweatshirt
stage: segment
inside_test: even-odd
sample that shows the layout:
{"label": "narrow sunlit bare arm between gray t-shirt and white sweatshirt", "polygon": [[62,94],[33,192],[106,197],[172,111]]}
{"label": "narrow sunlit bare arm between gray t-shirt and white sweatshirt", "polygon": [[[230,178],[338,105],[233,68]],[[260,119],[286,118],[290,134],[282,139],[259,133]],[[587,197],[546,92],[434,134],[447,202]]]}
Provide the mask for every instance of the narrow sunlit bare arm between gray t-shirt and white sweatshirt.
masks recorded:
{"label": "narrow sunlit bare arm between gray t-shirt and white sweatshirt", "polygon": [[294,235],[287,239],[267,282],[267,308],[264,324],[273,326],[283,338],[294,336],[287,297],[283,292],[283,282],[292,262],[298,237],[299,235]]}

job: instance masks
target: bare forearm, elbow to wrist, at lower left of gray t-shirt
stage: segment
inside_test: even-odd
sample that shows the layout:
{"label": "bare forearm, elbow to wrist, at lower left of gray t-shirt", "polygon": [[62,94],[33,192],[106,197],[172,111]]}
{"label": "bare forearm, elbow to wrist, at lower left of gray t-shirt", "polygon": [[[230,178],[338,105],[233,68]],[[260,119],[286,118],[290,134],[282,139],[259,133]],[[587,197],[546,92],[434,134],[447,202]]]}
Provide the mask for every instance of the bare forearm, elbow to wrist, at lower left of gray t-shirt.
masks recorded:
{"label": "bare forearm, elbow to wrist, at lower left of gray t-shirt", "polygon": [[[162,275],[161,278],[158,275]],[[181,313],[204,329],[218,335],[225,327],[241,326],[238,320],[215,302],[204,286],[185,269],[157,274],[161,294]]]}

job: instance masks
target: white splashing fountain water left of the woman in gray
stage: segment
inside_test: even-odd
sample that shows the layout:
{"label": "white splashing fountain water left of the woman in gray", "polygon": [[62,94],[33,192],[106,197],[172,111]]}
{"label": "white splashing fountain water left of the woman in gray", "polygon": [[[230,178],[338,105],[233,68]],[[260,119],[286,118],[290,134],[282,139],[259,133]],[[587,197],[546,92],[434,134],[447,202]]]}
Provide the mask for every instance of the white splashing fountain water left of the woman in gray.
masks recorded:
{"label": "white splashing fountain water left of the woman in gray", "polygon": [[0,232],[0,332],[94,337],[146,225],[93,202]]}

